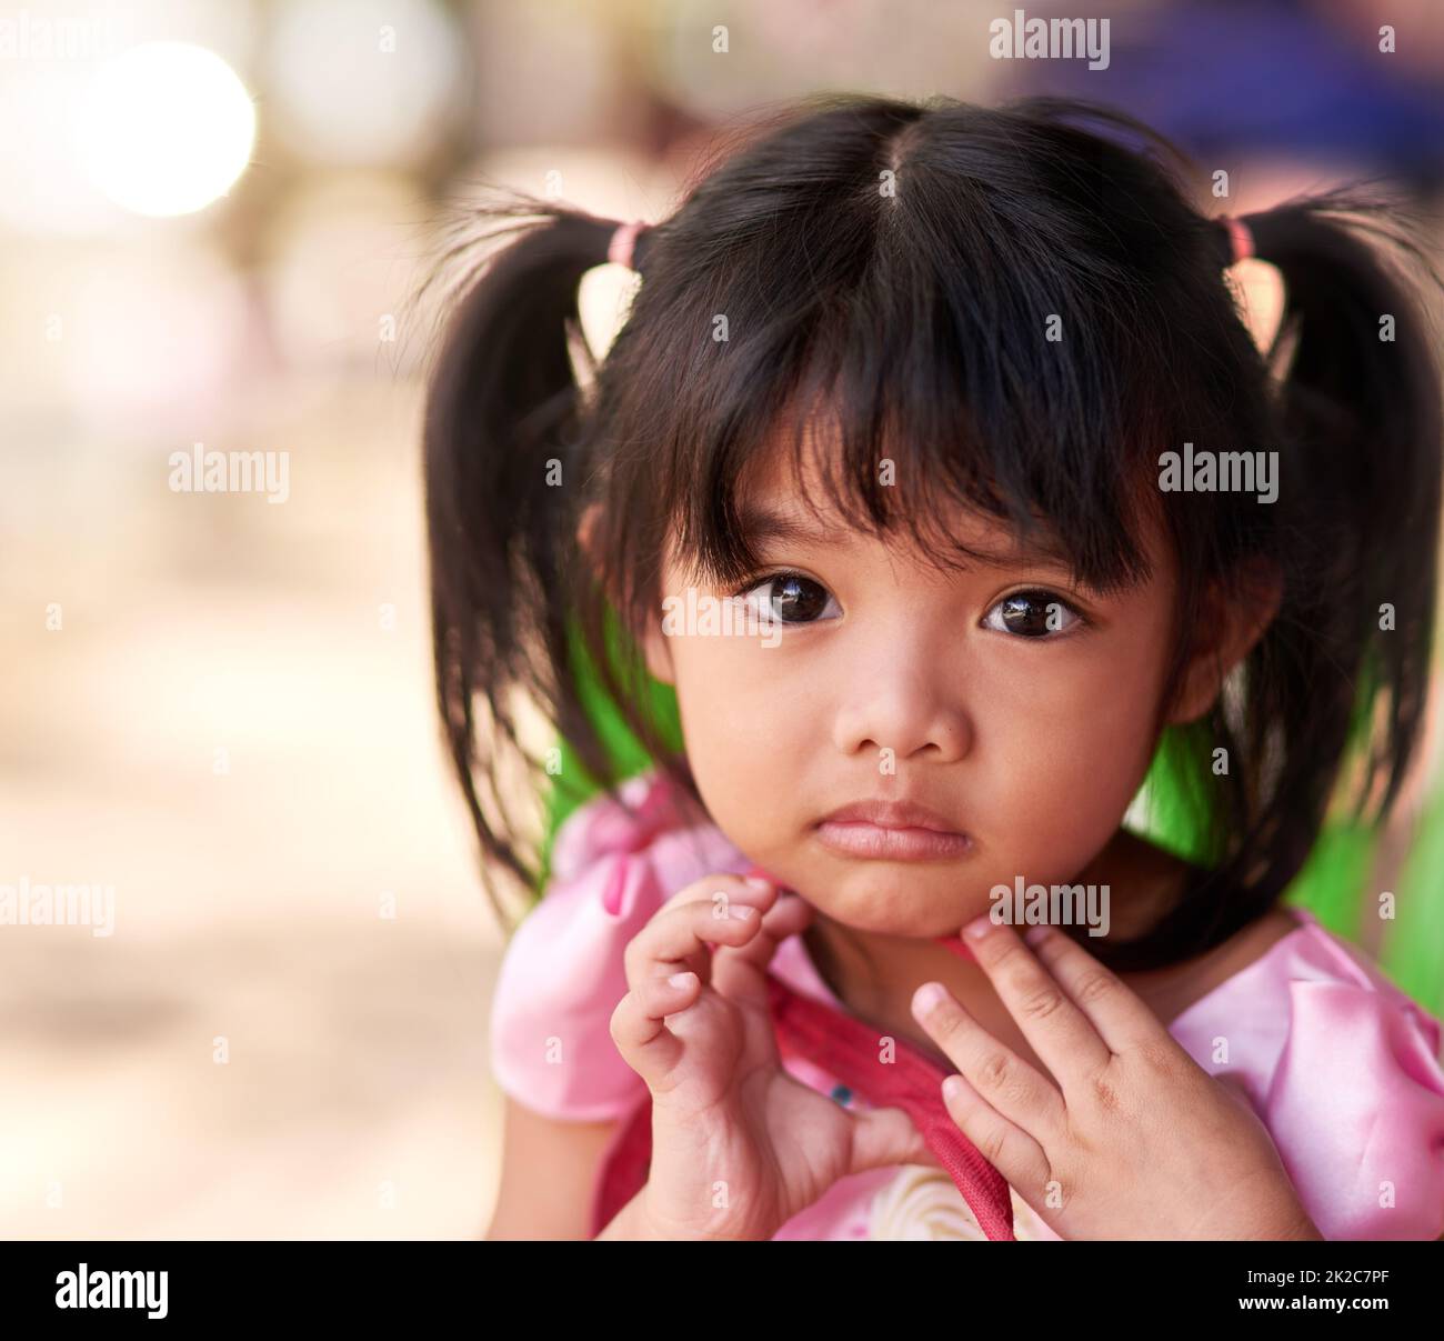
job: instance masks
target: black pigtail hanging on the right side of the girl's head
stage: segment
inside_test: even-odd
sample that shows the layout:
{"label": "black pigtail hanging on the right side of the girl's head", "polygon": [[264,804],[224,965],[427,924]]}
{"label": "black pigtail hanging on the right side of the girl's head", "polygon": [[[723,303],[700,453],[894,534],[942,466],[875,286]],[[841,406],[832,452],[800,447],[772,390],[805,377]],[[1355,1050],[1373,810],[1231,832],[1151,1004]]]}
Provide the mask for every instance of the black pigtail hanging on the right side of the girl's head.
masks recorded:
{"label": "black pigtail hanging on the right side of the girl's head", "polygon": [[[1220,780],[1219,832],[1242,842],[1209,897],[1190,900],[1193,915],[1212,923],[1207,944],[1287,889],[1331,802],[1352,801],[1354,819],[1372,811],[1367,822],[1382,822],[1421,734],[1441,452],[1425,299],[1440,280],[1419,243],[1391,221],[1398,212],[1343,189],[1242,218],[1253,253],[1284,282],[1265,354],[1282,435],[1268,548],[1281,562],[1284,595],[1245,663],[1246,688],[1235,698],[1242,710],[1230,714],[1220,701],[1207,727],[1213,743],[1261,743],[1245,751],[1245,776]],[[1227,246],[1220,221],[1225,263]],[[1414,266],[1428,283],[1406,277]],[[1220,887],[1248,893],[1220,902]]]}

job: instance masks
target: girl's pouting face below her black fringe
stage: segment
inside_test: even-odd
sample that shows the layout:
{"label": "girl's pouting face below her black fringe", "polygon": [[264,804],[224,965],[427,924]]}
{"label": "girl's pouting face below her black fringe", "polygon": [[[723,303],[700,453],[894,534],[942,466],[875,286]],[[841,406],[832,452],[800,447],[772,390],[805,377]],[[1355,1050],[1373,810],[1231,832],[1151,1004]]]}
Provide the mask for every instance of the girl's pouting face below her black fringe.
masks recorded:
{"label": "girl's pouting face below her black fringe", "polygon": [[[1175,582],[1167,546],[1149,538],[1152,578],[1105,598],[1047,559],[941,574],[840,523],[817,530],[790,471],[742,507],[807,532],[755,542],[765,577],[747,603],[781,627],[663,631],[658,616],[644,637],[722,832],[825,915],[885,935],[953,935],[1019,876],[1069,883],[1115,835],[1152,759]],[[991,519],[960,512],[954,535],[1012,559]],[[687,585],[669,556],[663,595],[676,600],[663,608],[680,617]],[[702,610],[734,592],[693,594]],[[1168,720],[1212,702],[1207,652]],[[842,853],[819,834],[830,812],[874,799],[926,806],[969,841],[902,858]]]}

